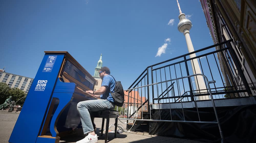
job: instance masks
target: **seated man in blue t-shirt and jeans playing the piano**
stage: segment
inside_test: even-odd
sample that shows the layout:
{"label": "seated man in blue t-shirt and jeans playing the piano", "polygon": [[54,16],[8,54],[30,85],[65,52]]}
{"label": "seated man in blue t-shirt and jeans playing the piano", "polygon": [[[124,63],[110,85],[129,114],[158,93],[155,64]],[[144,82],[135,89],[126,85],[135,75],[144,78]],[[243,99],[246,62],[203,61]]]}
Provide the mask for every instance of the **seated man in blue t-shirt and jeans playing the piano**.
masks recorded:
{"label": "seated man in blue t-shirt and jeans playing the piano", "polygon": [[99,70],[99,76],[102,79],[100,89],[97,91],[86,91],[86,93],[92,94],[92,96],[98,98],[97,100],[86,100],[77,104],[77,110],[82,122],[83,133],[88,135],[76,143],[98,142],[98,137],[94,132],[89,111],[113,110],[115,108],[114,99],[110,94],[110,92],[114,92],[115,80],[109,74],[109,68],[102,67]]}

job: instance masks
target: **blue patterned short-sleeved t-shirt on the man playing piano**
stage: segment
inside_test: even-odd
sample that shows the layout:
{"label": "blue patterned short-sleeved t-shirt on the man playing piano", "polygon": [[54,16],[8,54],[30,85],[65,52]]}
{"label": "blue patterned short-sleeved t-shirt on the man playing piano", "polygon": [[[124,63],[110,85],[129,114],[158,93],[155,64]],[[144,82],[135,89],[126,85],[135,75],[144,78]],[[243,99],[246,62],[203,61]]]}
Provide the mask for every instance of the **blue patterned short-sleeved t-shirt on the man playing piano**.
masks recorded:
{"label": "blue patterned short-sleeved t-shirt on the man playing piano", "polygon": [[115,80],[110,75],[105,75],[102,79],[101,86],[106,86],[106,92],[100,95],[100,99],[107,99],[109,102],[114,102],[114,99],[110,92],[114,92]]}

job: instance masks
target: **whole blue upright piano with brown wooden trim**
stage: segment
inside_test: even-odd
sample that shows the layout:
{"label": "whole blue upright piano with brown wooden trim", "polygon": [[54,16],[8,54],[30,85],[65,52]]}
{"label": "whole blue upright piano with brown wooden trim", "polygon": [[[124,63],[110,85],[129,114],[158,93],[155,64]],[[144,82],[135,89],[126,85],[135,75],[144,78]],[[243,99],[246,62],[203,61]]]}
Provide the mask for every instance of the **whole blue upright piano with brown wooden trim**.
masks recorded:
{"label": "whole blue upright piano with brown wooden trim", "polygon": [[85,93],[96,80],[66,51],[45,51],[10,143],[57,143],[82,128],[77,103],[94,100]]}

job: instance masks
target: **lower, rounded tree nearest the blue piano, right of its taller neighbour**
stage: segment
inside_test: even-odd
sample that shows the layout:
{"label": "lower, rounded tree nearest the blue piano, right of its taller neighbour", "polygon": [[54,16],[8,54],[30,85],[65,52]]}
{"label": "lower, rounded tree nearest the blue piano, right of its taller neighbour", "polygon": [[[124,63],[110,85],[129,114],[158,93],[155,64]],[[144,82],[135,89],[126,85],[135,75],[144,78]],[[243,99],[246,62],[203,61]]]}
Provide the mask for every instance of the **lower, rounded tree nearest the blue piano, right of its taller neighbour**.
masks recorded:
{"label": "lower, rounded tree nearest the blue piano, right of its taller neighbour", "polygon": [[[13,101],[17,102],[20,98],[26,96],[26,93],[23,90],[20,90],[18,88],[11,88],[9,90],[9,96],[13,97]],[[16,105],[23,105],[25,102],[26,97],[20,99]]]}

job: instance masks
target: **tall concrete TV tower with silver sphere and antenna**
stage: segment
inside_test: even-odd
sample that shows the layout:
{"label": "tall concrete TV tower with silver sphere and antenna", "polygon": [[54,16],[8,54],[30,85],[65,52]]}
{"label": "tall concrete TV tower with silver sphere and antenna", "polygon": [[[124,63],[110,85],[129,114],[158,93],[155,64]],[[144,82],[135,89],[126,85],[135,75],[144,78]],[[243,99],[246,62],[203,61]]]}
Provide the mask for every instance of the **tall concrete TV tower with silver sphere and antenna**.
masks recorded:
{"label": "tall concrete TV tower with silver sphere and antenna", "polygon": [[[189,30],[192,27],[192,23],[189,19],[186,19],[185,14],[182,13],[182,11],[180,10],[180,6],[179,6],[179,2],[177,0],[178,3],[178,7],[179,7],[179,24],[178,24],[178,30],[179,32],[183,33],[185,35],[186,38],[186,42],[187,42],[187,46],[188,46],[188,52],[194,52],[194,47],[192,44],[192,41],[190,39],[190,35],[189,35]],[[190,54],[189,55],[190,58],[196,57],[196,54]],[[192,69],[193,69],[193,74],[202,74],[201,73],[201,69],[199,67],[198,61],[197,59],[193,59],[191,60],[191,65],[192,65]],[[196,85],[196,90],[197,93],[207,93],[207,88],[205,86],[205,82],[202,76],[196,76],[195,78],[195,85]],[[198,96],[197,100],[208,100],[209,96]]]}

